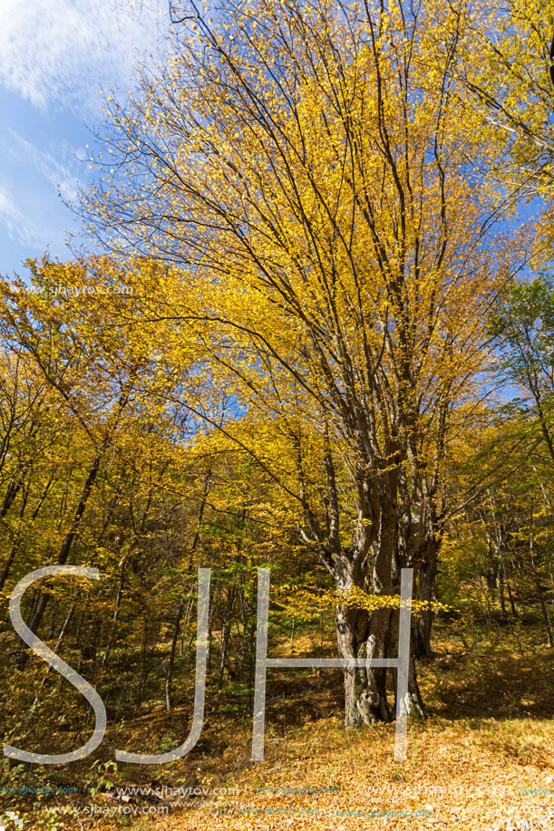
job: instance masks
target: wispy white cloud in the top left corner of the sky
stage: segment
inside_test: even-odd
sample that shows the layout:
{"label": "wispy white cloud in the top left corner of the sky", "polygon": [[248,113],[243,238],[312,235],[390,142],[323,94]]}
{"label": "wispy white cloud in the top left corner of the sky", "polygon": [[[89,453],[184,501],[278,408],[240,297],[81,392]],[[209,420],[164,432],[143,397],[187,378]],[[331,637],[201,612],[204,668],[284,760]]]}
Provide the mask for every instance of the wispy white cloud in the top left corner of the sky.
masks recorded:
{"label": "wispy white cloud in the top left corner of the sky", "polygon": [[0,83],[40,108],[97,113],[99,90],[131,88],[167,25],[157,0],[1,0]]}

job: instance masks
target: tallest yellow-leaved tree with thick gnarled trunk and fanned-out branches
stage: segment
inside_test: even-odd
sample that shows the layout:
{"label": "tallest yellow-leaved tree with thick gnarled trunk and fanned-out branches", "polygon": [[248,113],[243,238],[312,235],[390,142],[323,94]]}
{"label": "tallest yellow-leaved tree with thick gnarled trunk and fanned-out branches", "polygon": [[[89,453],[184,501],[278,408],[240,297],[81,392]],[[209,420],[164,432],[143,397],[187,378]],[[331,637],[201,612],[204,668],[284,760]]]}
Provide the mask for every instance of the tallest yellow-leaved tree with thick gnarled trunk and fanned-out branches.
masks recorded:
{"label": "tallest yellow-leaved tree with thick gnarled trunk and fanned-out branches", "polygon": [[[109,99],[106,180],[83,211],[113,251],[168,266],[144,319],[205,344],[251,425],[227,437],[296,502],[336,588],[393,595],[413,565],[428,600],[445,452],[520,255],[494,233],[513,197],[494,182],[498,130],[460,80],[471,9],[252,0],[182,16],[131,107]],[[339,604],[340,655],[394,655],[395,623],[386,604]],[[430,631],[428,616],[423,652]],[[385,680],[345,670],[346,725],[389,718]],[[410,695],[421,711],[414,672]]]}

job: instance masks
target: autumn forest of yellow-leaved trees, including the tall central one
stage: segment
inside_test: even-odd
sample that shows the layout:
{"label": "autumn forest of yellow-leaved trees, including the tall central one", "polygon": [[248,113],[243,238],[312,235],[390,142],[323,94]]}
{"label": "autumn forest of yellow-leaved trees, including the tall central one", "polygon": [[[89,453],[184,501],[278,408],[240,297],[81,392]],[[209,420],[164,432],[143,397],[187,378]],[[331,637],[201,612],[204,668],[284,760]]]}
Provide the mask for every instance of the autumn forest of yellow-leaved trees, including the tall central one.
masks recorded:
{"label": "autumn forest of yellow-leaved trees, including the tall central one", "polygon": [[[106,98],[88,246],[1,286],[0,712],[38,752],[92,730],[10,623],[44,565],[102,574],[22,610],[133,752],[186,735],[118,730],[191,718],[199,567],[237,718],[261,566],[274,652],[371,659],[413,568],[414,720],[437,621],[554,647],[554,3],[173,14],[166,63]],[[346,728],[393,719],[394,672],[341,675]]]}

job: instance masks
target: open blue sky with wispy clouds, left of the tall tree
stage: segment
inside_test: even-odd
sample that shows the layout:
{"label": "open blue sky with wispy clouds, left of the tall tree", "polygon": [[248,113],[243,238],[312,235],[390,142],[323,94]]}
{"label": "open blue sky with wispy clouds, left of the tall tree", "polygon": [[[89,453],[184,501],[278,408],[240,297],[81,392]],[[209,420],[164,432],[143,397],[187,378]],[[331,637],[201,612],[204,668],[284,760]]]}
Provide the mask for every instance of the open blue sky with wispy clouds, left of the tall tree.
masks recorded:
{"label": "open blue sky with wispy clouds, left of the tall tree", "polygon": [[[159,11],[160,10],[160,11]],[[168,5],[157,0],[4,0],[0,25],[0,275],[71,256],[78,217],[63,205],[91,175],[87,129],[102,92],[132,89],[136,65],[163,49]]]}

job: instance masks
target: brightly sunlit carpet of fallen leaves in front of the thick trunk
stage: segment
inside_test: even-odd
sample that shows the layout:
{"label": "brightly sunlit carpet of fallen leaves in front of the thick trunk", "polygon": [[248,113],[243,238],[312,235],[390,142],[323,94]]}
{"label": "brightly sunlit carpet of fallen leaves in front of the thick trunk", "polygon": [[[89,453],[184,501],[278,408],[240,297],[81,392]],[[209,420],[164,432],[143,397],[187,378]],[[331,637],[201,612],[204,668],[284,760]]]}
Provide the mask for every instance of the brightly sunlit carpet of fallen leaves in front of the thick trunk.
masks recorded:
{"label": "brightly sunlit carpet of fallen leaves in front of the thick trunk", "polygon": [[345,735],[332,718],[269,740],[265,761],[254,765],[248,737],[237,737],[225,784],[238,794],[160,824],[174,831],[554,828],[551,720],[435,717],[410,731],[403,764],[394,763],[393,742],[389,726]]}

